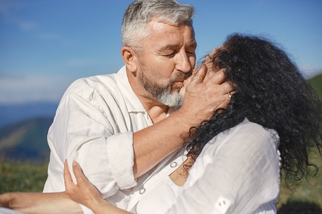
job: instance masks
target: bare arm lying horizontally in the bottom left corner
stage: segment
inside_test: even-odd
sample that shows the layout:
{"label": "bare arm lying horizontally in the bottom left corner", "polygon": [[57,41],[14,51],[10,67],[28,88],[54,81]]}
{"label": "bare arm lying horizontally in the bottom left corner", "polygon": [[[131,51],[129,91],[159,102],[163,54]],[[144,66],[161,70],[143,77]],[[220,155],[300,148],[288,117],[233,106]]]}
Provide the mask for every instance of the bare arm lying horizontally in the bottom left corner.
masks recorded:
{"label": "bare arm lying horizontally in the bottom left corner", "polygon": [[0,207],[25,214],[83,214],[80,205],[66,192],[9,192],[0,194]]}

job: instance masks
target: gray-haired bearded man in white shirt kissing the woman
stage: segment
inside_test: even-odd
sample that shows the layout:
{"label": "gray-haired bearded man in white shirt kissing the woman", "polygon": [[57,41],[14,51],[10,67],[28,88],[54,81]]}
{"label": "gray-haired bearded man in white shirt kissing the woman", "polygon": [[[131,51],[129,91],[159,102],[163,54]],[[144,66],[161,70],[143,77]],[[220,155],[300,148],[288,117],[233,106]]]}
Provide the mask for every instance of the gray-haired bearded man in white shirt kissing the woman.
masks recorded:
{"label": "gray-haired bearded man in white shirt kissing the woman", "polygon": [[[52,202],[46,213],[92,213],[63,192],[66,159],[80,163],[104,199],[127,209],[133,194],[148,191],[136,186],[160,176],[164,167],[173,171],[183,163],[183,137],[190,127],[209,119],[213,106],[229,103],[228,92],[234,89],[222,83],[220,72],[204,81],[205,67],[193,72],[184,101],[180,98],[195,66],[193,14],[192,6],[174,0],[134,1],[122,22],[125,66],[77,80],[66,90],[48,132],[44,187],[44,192],[61,193],[45,194]],[[43,213],[44,202],[32,207],[37,197],[42,193],[29,194],[32,201],[24,212]]]}

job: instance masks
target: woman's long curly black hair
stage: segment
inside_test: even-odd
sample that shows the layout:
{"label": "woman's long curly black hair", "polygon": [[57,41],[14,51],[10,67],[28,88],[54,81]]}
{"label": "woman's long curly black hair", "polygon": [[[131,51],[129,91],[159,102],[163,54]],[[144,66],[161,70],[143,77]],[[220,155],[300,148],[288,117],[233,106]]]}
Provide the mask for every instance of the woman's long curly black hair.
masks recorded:
{"label": "woman's long curly black hair", "polygon": [[278,132],[287,184],[315,176],[317,167],[309,163],[307,148],[316,146],[321,154],[322,107],[290,57],[266,38],[234,33],[206,60],[214,70],[226,68],[237,93],[227,109],[190,129],[188,155],[195,160],[215,135],[247,118]]}

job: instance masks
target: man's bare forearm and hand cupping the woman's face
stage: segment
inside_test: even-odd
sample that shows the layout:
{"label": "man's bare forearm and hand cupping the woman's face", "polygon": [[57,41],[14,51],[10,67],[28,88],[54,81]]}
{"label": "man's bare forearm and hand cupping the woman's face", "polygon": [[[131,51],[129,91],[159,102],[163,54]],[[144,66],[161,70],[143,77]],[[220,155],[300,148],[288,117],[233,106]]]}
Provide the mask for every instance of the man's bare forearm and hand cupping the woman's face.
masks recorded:
{"label": "man's bare forearm and hand cupping the woman's face", "polygon": [[182,107],[168,118],[133,134],[135,178],[147,172],[176,148],[183,145],[189,129],[210,119],[214,110],[226,108],[228,92],[234,90],[225,82],[224,70],[204,80],[206,66],[201,66],[187,86]]}

